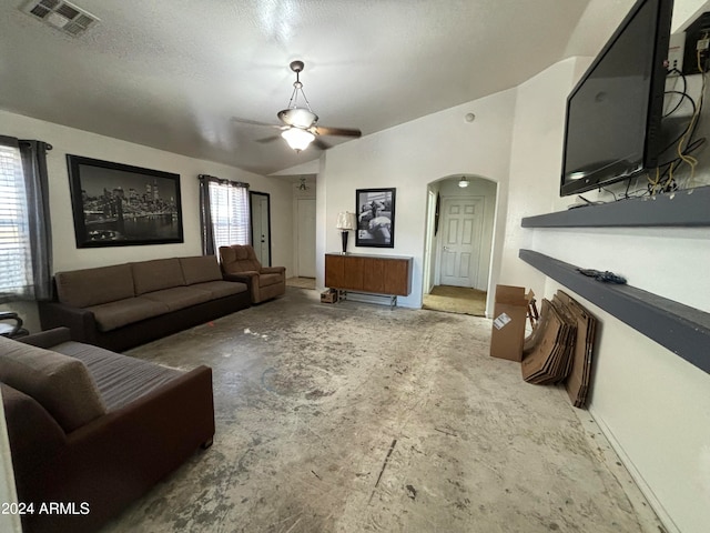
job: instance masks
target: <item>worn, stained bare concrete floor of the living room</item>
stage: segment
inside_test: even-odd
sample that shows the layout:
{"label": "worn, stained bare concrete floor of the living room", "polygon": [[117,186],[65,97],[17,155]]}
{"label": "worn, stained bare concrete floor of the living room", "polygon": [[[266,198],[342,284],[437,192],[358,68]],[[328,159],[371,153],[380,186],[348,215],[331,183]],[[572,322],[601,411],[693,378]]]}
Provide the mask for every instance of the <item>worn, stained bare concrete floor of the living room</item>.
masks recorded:
{"label": "worn, stained bare concrete floor of the living room", "polygon": [[141,346],[214,370],[214,445],[105,532],[643,532],[587,412],[488,356],[490,321],[285,296]]}

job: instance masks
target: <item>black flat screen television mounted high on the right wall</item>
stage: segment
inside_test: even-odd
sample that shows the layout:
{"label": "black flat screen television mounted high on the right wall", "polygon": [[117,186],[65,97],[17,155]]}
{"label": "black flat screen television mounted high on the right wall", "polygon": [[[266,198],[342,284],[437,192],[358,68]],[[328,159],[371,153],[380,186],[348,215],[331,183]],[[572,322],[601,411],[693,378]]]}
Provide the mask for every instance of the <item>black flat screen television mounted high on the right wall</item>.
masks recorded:
{"label": "black flat screen television mounted high on the right wall", "polygon": [[673,0],[638,0],[567,99],[560,197],[656,168]]}

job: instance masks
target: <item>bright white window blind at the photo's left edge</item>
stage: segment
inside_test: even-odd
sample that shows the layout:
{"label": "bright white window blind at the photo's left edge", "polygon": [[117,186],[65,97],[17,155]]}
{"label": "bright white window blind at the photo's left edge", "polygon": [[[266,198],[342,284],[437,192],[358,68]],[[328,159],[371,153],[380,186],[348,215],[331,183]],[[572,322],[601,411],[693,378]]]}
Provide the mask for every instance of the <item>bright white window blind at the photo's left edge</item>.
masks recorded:
{"label": "bright white window blind at the photo's left edge", "polygon": [[32,285],[27,192],[16,147],[0,144],[0,299]]}

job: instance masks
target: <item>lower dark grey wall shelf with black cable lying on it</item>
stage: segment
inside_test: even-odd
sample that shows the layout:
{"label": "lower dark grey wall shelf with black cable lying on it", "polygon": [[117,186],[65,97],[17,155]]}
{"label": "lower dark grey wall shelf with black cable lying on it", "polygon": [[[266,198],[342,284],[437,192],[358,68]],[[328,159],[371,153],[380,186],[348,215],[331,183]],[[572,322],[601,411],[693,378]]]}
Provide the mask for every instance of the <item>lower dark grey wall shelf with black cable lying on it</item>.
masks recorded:
{"label": "lower dark grey wall shelf with black cable lying on it", "polygon": [[710,313],[630,285],[584,275],[574,264],[532,250],[519,258],[621,322],[710,373]]}

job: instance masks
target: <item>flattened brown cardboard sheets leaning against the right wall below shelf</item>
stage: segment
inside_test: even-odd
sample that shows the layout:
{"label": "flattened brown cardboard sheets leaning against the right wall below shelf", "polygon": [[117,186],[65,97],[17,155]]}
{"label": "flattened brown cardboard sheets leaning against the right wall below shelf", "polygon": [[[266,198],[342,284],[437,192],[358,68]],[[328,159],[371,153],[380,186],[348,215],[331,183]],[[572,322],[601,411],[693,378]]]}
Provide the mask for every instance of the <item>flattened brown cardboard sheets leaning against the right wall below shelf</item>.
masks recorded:
{"label": "flattened brown cardboard sheets leaning against the right wall below shelf", "polygon": [[529,383],[559,383],[577,408],[587,403],[595,319],[568,294],[558,291],[542,300],[540,321],[525,340],[523,379]]}

